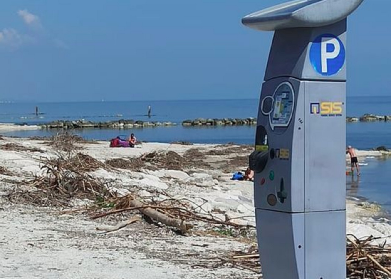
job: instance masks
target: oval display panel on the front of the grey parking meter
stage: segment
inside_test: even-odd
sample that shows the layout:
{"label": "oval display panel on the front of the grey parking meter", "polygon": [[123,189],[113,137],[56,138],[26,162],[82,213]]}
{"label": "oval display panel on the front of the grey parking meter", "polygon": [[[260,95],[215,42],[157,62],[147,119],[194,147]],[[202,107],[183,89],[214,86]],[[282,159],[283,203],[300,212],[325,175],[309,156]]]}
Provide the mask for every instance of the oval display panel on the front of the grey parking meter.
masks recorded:
{"label": "oval display panel on the front of the grey parking meter", "polygon": [[287,126],[293,112],[293,90],[288,83],[280,85],[274,93],[273,126]]}

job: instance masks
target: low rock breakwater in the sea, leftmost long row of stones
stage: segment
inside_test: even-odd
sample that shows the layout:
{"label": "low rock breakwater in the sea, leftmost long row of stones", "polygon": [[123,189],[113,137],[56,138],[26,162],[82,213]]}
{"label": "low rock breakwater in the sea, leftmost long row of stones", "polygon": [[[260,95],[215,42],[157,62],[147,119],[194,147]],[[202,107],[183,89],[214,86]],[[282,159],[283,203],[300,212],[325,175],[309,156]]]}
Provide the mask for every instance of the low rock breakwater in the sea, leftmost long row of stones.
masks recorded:
{"label": "low rock breakwater in the sea, leftmost long row of stones", "polygon": [[63,121],[58,120],[46,124],[40,124],[43,129],[83,129],[83,128],[143,128],[159,126],[175,126],[173,122],[141,121],[133,119],[120,119],[117,121],[93,122],[85,120]]}

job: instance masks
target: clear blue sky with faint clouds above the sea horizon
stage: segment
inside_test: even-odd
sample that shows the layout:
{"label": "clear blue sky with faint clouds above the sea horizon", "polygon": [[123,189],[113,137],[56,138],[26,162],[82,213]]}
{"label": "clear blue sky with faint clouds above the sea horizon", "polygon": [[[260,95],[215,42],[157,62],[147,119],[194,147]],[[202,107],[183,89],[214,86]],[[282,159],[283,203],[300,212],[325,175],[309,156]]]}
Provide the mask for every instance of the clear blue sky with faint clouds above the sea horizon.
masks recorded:
{"label": "clear blue sky with faint clouds above the sea horizon", "polygon": [[[258,98],[272,32],[242,16],[284,0],[3,0],[0,100]],[[348,20],[348,96],[387,95],[389,0]]]}

